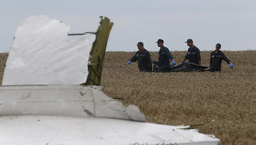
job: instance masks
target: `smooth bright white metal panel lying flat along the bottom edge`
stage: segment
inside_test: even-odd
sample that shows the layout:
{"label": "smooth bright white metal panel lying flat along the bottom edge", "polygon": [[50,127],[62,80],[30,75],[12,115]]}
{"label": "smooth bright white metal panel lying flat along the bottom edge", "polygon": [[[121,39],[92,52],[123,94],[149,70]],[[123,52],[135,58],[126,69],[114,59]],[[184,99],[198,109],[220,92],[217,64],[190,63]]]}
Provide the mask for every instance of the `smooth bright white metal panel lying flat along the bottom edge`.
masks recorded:
{"label": "smooth bright white metal panel lying flat along the bottom edge", "polygon": [[0,144],[217,145],[196,129],[98,117],[2,116]]}

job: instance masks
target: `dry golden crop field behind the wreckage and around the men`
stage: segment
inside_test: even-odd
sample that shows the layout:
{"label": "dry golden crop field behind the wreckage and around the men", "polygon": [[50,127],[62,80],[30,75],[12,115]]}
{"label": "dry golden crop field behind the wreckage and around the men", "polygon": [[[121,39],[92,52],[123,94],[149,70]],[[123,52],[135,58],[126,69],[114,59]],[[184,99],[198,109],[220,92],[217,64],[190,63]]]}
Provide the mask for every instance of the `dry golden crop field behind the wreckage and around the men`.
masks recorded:
{"label": "dry golden crop field behind the wreckage and around the men", "polygon": [[[141,73],[137,63],[128,65],[135,52],[106,52],[105,93],[135,104],[146,121],[168,125],[213,123],[199,127],[214,134],[221,144],[256,144],[256,51],[223,51],[234,64],[222,64],[221,73]],[[157,52],[150,52],[157,61]],[[1,54],[1,81],[5,58]],[[180,63],[185,51],[172,55]],[[202,65],[209,65],[210,51],[201,51]]]}

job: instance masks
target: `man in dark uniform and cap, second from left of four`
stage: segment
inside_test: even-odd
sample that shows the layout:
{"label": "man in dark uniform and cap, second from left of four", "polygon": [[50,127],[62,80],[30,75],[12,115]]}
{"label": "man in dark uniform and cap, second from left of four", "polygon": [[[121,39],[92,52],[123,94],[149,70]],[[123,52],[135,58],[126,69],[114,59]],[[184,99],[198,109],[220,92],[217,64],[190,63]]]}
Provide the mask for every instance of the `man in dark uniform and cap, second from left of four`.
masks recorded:
{"label": "man in dark uniform and cap, second from left of four", "polygon": [[164,47],[164,41],[163,39],[158,39],[156,42],[157,46],[160,48],[158,52],[158,60],[159,60],[159,71],[164,72],[170,69],[170,61],[169,58],[172,61],[173,65],[176,65],[176,62],[174,60],[174,57],[171,55],[170,50],[167,47]]}

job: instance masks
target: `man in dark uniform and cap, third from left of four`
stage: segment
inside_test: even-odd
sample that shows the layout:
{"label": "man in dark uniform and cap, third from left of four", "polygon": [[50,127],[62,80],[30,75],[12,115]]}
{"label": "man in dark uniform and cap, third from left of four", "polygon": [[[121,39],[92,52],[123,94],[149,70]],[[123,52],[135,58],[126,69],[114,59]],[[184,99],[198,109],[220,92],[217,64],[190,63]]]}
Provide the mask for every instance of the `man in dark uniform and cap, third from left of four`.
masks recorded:
{"label": "man in dark uniform and cap, third from left of four", "polygon": [[193,44],[193,40],[188,39],[187,42],[185,42],[185,43],[188,44],[189,48],[188,48],[187,54],[185,55],[185,57],[183,58],[183,61],[181,63],[183,63],[184,61],[186,61],[188,59],[188,61],[191,63],[201,65],[200,50]]}

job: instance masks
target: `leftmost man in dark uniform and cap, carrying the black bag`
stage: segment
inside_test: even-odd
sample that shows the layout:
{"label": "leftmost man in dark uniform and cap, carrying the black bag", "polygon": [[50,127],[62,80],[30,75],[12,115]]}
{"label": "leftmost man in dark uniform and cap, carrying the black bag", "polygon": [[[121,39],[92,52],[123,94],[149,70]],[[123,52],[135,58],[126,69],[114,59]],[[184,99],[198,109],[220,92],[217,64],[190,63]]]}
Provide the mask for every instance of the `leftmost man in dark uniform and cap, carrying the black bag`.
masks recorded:
{"label": "leftmost man in dark uniform and cap, carrying the black bag", "polygon": [[136,52],[135,56],[129,60],[128,64],[138,61],[140,71],[152,72],[152,62],[149,51],[144,48],[142,42],[138,42],[137,47],[139,50]]}

